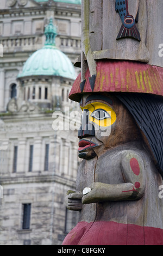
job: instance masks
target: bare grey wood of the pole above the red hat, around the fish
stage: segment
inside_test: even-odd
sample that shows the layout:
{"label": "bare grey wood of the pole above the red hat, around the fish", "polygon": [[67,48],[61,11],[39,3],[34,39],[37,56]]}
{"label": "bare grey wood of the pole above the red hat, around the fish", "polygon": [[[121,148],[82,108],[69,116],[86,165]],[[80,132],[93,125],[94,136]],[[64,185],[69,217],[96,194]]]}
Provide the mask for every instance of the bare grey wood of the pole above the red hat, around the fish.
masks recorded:
{"label": "bare grey wood of the pole above the red hat, around the fish", "polygon": [[[89,21],[87,28],[89,29],[89,44],[95,60],[137,60],[163,67],[163,58],[159,56],[159,45],[163,44],[162,0],[128,1],[130,14],[134,17],[139,5],[139,20],[136,27],[141,35],[140,42],[131,38],[116,40],[122,21],[115,11],[115,0],[87,2],[90,3],[89,14],[87,14],[89,17],[86,18]],[[84,0],[82,4],[84,5]],[[82,20],[85,22],[83,17],[84,13],[82,13]]]}

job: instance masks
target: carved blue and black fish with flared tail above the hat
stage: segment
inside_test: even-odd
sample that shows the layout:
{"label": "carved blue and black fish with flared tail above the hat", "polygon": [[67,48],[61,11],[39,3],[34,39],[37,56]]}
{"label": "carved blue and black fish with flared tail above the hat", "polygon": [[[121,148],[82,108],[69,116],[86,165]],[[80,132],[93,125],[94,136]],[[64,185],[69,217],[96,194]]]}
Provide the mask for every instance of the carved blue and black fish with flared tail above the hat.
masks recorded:
{"label": "carved blue and black fish with flared tail above the hat", "polygon": [[119,13],[122,21],[122,26],[117,36],[117,40],[120,38],[129,37],[141,41],[140,33],[135,25],[135,22],[138,21],[138,4],[136,10],[134,11],[134,13],[136,13],[135,19],[133,15],[129,14],[128,7],[128,0],[116,0],[115,10]]}

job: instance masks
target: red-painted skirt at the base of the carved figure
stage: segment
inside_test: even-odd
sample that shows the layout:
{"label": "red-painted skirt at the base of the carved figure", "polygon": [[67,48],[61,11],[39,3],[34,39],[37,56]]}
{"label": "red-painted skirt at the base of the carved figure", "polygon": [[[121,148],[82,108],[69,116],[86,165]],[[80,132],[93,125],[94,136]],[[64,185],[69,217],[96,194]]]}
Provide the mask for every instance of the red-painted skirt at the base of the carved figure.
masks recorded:
{"label": "red-painted skirt at the base of the carved figure", "polygon": [[[96,235],[96,230],[103,233]],[[110,233],[108,233],[110,230]],[[162,229],[117,222],[79,222],[64,245],[162,245]],[[115,235],[116,234],[116,235]],[[139,234],[137,236],[136,234]]]}

